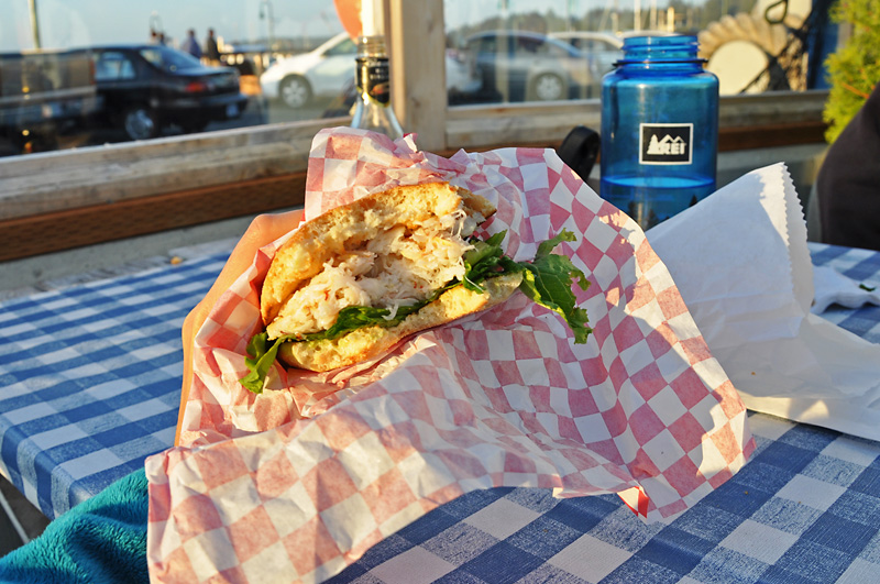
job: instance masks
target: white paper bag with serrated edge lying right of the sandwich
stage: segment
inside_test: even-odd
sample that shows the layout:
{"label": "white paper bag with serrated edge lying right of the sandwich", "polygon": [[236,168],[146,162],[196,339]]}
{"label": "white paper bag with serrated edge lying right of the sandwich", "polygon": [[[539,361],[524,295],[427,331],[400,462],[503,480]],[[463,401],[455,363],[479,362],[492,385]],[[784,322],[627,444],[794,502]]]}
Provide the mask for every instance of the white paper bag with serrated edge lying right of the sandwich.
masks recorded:
{"label": "white paper bag with serrated edge lying right of the sandwich", "polygon": [[880,440],[880,345],[811,313],[806,225],[783,164],[647,236],[749,409]]}

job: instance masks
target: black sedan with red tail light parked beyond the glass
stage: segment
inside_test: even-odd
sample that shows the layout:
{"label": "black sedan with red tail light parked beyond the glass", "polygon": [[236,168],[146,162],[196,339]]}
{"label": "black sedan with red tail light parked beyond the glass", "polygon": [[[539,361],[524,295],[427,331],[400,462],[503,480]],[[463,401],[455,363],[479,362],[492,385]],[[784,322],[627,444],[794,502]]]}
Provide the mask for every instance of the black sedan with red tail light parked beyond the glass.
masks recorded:
{"label": "black sedan with red tail light parked beyond the glass", "polygon": [[90,51],[103,99],[99,121],[124,130],[131,140],[154,137],[170,124],[200,132],[211,122],[239,118],[248,104],[232,67],[208,67],[162,45]]}

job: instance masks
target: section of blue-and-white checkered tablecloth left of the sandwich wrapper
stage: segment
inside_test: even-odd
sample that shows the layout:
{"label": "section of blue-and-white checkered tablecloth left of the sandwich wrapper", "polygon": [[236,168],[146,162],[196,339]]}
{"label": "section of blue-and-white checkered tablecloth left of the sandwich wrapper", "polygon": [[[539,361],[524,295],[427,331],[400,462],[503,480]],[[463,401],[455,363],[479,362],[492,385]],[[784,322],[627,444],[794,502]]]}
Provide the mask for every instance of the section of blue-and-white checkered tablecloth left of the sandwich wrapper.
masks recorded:
{"label": "section of blue-and-white checkered tablecloth left of the sandwich wrapper", "polygon": [[0,304],[0,474],[47,517],[172,445],[180,327],[227,257]]}

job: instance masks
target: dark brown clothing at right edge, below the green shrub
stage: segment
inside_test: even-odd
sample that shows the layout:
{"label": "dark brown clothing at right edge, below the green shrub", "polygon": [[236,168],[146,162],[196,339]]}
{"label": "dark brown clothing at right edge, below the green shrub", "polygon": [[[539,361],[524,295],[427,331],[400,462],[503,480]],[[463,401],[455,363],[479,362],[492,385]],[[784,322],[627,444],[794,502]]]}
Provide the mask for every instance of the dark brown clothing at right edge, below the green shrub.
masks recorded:
{"label": "dark brown clothing at right edge, below the green shrub", "polygon": [[880,250],[880,84],[828,148],[816,190],[822,241]]}

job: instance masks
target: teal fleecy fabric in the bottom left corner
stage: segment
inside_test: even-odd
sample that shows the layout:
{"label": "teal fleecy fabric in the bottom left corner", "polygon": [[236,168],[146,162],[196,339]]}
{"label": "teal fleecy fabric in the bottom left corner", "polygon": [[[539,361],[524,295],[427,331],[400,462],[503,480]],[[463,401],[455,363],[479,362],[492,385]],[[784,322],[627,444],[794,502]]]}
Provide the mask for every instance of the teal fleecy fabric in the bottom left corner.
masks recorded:
{"label": "teal fleecy fabric in the bottom left corner", "polygon": [[0,583],[136,584],[146,572],[148,497],[143,469],[52,521],[0,558]]}

